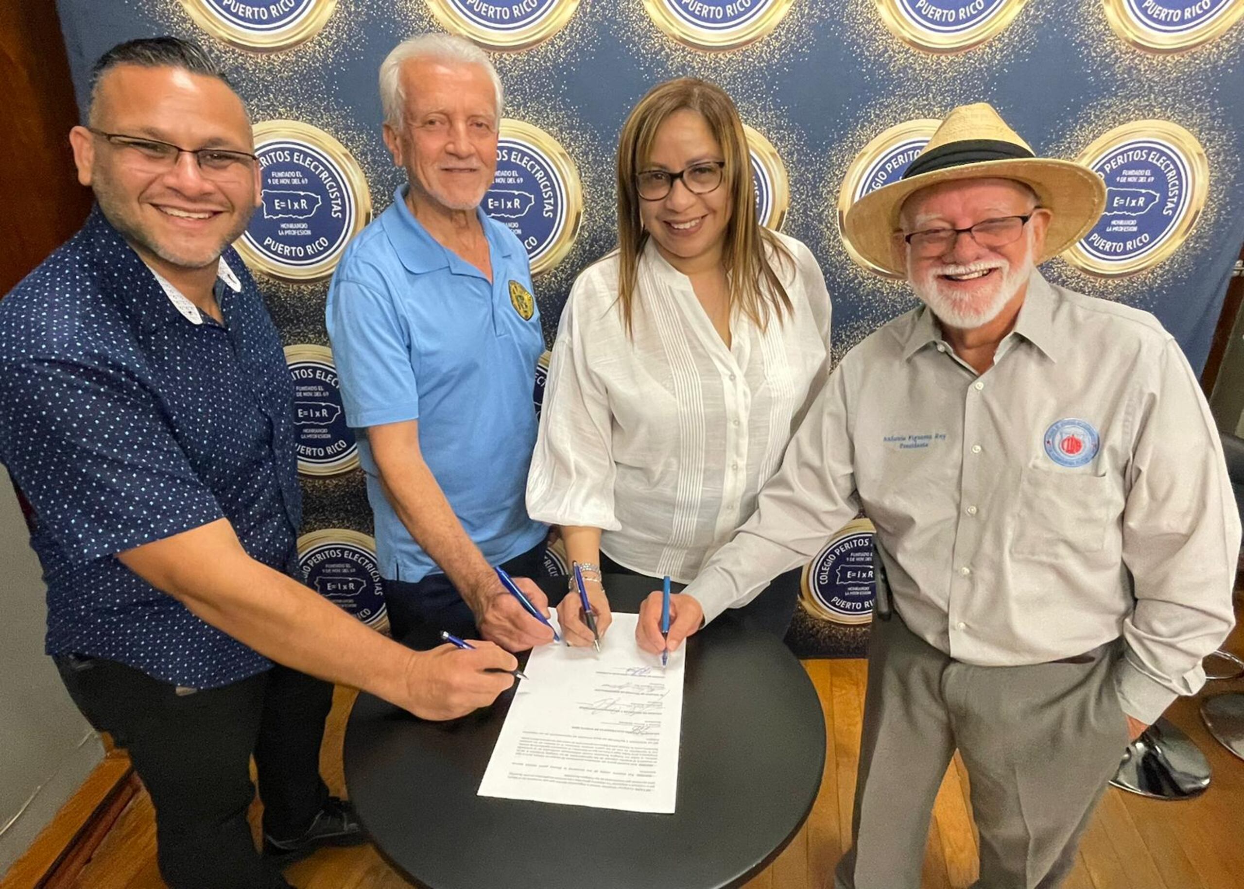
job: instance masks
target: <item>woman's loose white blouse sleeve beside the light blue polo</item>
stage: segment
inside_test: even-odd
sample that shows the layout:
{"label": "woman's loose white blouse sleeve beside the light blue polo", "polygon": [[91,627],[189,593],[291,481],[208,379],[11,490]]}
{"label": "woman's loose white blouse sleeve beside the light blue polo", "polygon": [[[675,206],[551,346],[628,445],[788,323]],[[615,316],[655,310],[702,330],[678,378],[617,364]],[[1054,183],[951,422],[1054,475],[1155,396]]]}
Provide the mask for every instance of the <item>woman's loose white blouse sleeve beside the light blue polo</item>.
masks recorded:
{"label": "woman's loose white blouse sleeve beside the light blue polo", "polygon": [[592,373],[572,292],[562,311],[527,475],[527,515],[554,525],[617,531],[608,393]]}

